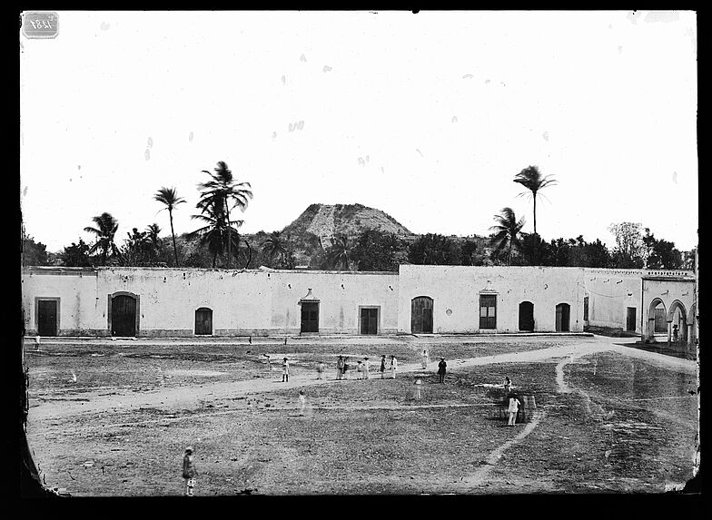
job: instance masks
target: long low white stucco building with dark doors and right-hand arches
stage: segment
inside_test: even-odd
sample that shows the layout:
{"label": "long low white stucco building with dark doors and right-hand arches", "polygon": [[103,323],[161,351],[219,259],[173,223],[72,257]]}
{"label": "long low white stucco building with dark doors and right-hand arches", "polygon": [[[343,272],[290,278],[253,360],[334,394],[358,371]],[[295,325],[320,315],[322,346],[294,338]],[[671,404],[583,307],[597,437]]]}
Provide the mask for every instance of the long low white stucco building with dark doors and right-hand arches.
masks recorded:
{"label": "long low white stucco building with dark doors and right-hand arches", "polygon": [[680,270],[401,265],[394,272],[56,268],[22,271],[42,336],[581,332],[697,338]]}

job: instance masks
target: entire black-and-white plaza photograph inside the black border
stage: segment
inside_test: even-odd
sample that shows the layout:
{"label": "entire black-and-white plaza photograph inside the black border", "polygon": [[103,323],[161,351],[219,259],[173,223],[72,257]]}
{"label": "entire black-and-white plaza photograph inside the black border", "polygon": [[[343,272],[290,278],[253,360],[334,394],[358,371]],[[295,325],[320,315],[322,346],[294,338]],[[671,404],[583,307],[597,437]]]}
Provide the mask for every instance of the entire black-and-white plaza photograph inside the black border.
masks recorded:
{"label": "entire black-and-white plaza photograph inside the black border", "polygon": [[700,493],[695,11],[18,14],[21,495]]}

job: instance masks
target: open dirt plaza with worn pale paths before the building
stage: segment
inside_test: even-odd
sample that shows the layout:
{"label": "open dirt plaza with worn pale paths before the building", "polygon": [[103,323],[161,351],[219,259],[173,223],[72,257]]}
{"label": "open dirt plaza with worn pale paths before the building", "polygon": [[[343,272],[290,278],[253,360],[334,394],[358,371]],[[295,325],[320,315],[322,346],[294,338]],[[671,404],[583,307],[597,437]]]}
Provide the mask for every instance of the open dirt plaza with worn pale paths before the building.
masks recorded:
{"label": "open dirt plaza with worn pale paths before the building", "polygon": [[[45,484],[73,496],[183,495],[188,445],[195,495],[649,494],[693,476],[697,363],[635,339],[48,339],[25,345],[27,437]],[[371,378],[335,380],[340,354],[369,357]],[[536,400],[516,427],[505,376]]]}

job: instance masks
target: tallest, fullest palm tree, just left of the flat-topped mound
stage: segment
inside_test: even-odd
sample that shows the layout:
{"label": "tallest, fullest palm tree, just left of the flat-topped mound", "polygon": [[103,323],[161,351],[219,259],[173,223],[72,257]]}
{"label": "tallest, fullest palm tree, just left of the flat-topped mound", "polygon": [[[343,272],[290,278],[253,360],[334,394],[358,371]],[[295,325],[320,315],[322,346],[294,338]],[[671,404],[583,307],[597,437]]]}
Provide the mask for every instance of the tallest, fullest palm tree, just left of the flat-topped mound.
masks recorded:
{"label": "tallest, fullest palm tree, just left of the flat-topped mound", "polygon": [[242,225],[242,221],[230,220],[230,210],[237,207],[240,208],[241,211],[244,211],[245,208],[247,208],[247,204],[250,199],[252,199],[251,185],[250,182],[235,182],[232,171],[224,161],[218,162],[214,172],[203,170],[203,173],[210,175],[211,180],[198,184],[198,188],[200,188],[202,194],[197,207],[203,210],[204,207],[213,203],[214,200],[223,200],[227,222],[229,222],[226,228],[227,235],[230,238],[230,240],[227,240],[227,267],[229,269],[232,234],[237,233],[236,230],[232,229],[232,224],[236,224],[237,227]]}

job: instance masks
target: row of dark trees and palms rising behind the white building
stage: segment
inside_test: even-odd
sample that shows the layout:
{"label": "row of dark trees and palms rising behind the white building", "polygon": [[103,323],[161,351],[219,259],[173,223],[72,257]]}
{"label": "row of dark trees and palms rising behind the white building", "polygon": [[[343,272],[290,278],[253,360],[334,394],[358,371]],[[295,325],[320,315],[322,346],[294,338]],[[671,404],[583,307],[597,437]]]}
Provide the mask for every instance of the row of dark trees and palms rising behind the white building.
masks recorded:
{"label": "row of dark trees and palms rising behind the white building", "polygon": [[[245,211],[252,200],[249,182],[238,182],[228,165],[221,161],[213,172],[197,184],[200,197],[192,220],[203,224],[194,231],[176,237],[173,212],[185,202],[175,188],[162,187],[153,201],[167,211],[171,240],[160,237],[158,223],[143,231],[133,228],[123,243],[117,244],[118,221],[108,212],[95,216],[93,226],[84,231],[94,241],[81,238],[64,247],[57,255],[48,253],[41,242],[23,231],[24,265],[62,265],[91,267],[96,265],[137,267],[195,267],[223,269],[306,268],[310,270],[385,270],[396,271],[402,263],[425,265],[515,265],[599,267],[619,269],[693,269],[694,250],[683,254],[675,243],[657,239],[640,223],[612,223],[608,228],[616,245],[608,250],[600,240],[563,237],[549,242],[537,231],[537,200],[544,188],[557,183],[542,176],[537,166],[519,172],[513,182],[526,188],[518,196],[529,196],[533,202],[534,232],[522,231],[525,219],[517,219],[510,207],[493,216],[494,225],[488,237],[444,236],[428,233],[401,237],[377,230],[365,230],[354,237],[337,234],[325,245],[320,237],[294,237],[290,233],[260,231],[241,235],[242,220],[234,219],[236,210]],[[231,216],[232,212],[232,216]],[[645,234],[643,234],[645,231]]]}

